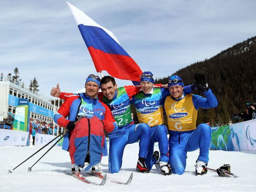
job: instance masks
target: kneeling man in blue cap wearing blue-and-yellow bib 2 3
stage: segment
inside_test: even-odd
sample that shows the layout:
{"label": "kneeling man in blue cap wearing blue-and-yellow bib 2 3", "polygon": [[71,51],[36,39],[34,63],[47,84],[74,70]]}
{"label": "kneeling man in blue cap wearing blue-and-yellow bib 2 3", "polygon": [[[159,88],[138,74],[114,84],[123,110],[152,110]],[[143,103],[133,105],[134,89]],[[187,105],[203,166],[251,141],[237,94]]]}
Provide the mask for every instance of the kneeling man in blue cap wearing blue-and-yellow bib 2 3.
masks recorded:
{"label": "kneeling man in blue cap wearing blue-and-yellow bib 2 3", "polygon": [[[171,170],[168,165],[168,138],[167,128],[163,125],[163,99],[170,95],[168,89],[154,87],[154,75],[150,71],[145,71],[140,75],[141,91],[132,97],[135,105],[139,123],[146,123],[150,126],[150,143],[146,166],[151,170],[155,164],[157,169],[161,169],[163,175],[170,175]],[[191,93],[191,86],[186,86],[185,90]],[[154,143],[159,143],[159,151],[154,151]]]}

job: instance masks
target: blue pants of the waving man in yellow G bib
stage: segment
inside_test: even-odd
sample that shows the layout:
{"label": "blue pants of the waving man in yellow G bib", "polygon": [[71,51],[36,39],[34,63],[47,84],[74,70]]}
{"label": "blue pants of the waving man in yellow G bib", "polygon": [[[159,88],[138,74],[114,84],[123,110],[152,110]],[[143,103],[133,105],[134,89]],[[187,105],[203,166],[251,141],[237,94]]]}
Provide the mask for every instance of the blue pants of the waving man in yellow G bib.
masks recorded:
{"label": "blue pants of the waving man in yellow G bib", "polygon": [[207,124],[200,124],[191,131],[169,130],[169,157],[172,172],[183,174],[186,168],[186,156],[188,151],[200,149],[197,160],[208,163],[211,146],[211,128]]}

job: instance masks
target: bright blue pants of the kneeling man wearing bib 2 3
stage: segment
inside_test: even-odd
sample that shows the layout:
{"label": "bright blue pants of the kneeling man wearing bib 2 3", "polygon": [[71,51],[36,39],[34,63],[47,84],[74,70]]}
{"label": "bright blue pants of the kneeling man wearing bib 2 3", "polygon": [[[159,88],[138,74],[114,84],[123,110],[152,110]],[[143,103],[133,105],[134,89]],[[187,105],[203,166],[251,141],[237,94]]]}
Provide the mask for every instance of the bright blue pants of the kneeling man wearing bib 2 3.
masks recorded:
{"label": "bright blue pants of the kneeling man wearing bib 2 3", "polygon": [[148,147],[148,155],[146,158],[146,166],[148,170],[152,169],[152,166],[156,163],[156,159],[152,158],[154,152],[154,143],[158,142],[160,151],[160,161],[168,162],[168,138],[167,128],[164,125],[158,125],[150,128],[150,142]]}

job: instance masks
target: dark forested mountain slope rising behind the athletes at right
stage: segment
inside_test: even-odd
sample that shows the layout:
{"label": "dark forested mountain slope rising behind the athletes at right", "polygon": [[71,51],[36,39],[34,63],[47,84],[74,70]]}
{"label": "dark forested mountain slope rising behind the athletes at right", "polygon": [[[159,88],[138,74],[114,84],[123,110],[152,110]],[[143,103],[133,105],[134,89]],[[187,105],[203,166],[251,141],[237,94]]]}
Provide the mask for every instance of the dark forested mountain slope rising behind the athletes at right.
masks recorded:
{"label": "dark forested mountain slope rising behind the athletes at right", "polygon": [[[197,124],[225,125],[234,113],[246,110],[247,101],[256,101],[256,36],[238,43],[216,56],[191,64],[173,73],[181,76],[185,85],[194,82],[194,74],[203,73],[218,99],[214,109],[200,109]],[[168,77],[157,79],[166,84]],[[199,91],[194,94],[203,95]]]}

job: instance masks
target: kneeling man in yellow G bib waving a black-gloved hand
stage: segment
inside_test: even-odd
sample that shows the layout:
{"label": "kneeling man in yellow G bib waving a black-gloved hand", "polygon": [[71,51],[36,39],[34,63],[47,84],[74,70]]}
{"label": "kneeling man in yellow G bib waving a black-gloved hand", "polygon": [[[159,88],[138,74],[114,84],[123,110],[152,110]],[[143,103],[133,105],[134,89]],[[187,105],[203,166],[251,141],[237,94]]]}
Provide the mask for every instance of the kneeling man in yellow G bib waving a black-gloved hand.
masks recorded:
{"label": "kneeling man in yellow G bib waving a black-gloved hand", "polygon": [[208,87],[203,74],[194,75],[196,87],[206,98],[184,93],[184,83],[178,75],[172,75],[168,81],[170,96],[166,97],[164,109],[168,119],[170,167],[173,173],[183,174],[188,151],[200,149],[196,160],[196,175],[207,173],[211,128],[207,124],[196,127],[199,108],[214,108],[218,101]]}

